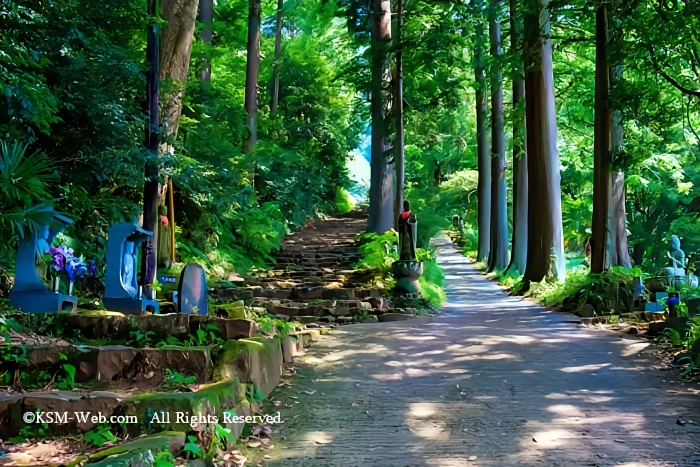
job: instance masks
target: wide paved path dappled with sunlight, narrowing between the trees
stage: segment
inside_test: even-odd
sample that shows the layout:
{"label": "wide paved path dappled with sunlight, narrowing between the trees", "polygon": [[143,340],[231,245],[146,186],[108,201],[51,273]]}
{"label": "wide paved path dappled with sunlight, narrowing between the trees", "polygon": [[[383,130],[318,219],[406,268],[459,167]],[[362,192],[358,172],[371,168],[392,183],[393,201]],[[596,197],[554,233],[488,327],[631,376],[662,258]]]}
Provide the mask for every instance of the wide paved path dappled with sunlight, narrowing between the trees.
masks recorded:
{"label": "wide paved path dappled with sunlight, narrowing between the trees", "polygon": [[700,425],[676,423],[700,423],[699,388],[665,381],[646,341],[508,297],[438,246],[444,313],[316,343],[272,396],[292,407],[267,465],[700,465]]}

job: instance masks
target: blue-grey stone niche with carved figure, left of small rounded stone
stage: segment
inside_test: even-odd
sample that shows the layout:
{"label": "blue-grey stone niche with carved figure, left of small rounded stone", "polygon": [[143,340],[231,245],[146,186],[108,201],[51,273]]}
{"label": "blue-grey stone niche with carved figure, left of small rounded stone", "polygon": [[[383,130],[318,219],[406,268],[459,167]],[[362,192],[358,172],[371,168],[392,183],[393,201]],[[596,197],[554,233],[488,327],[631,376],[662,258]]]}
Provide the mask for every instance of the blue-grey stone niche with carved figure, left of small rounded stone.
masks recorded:
{"label": "blue-grey stone niche with carved figure, left of small rounded stone", "polygon": [[143,296],[138,283],[141,244],[153,233],[133,222],[115,224],[107,233],[105,294],[102,302],[110,311],[127,314],[158,313],[158,302]]}

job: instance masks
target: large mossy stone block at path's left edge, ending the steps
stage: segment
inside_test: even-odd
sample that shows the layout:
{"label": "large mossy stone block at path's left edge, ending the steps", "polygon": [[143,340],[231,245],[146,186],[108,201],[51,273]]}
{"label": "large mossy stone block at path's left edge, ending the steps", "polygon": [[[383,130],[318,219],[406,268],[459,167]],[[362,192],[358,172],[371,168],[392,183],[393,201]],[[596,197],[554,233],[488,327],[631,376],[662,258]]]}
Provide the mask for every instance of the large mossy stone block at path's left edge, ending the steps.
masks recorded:
{"label": "large mossy stone block at path's left edge, ending the steps", "polygon": [[251,337],[224,344],[216,358],[214,379],[237,377],[253,383],[267,397],[282,376],[282,346],[279,339]]}

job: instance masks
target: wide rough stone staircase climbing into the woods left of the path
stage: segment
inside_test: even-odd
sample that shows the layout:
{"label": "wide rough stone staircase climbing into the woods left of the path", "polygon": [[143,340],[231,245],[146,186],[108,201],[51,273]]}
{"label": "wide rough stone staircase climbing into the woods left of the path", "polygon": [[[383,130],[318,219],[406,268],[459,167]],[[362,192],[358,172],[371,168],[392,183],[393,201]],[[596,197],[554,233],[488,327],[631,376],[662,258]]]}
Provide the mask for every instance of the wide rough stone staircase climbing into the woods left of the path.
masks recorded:
{"label": "wide rough stone staircase climbing into the woods left of the path", "polygon": [[363,271],[352,269],[359,259],[356,237],[366,222],[361,212],[311,222],[285,237],[272,269],[255,271],[241,287],[213,294],[306,324],[411,318],[415,309],[393,309],[380,290],[367,284]]}

